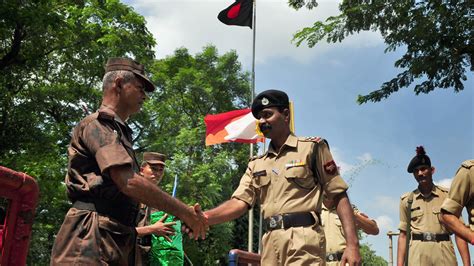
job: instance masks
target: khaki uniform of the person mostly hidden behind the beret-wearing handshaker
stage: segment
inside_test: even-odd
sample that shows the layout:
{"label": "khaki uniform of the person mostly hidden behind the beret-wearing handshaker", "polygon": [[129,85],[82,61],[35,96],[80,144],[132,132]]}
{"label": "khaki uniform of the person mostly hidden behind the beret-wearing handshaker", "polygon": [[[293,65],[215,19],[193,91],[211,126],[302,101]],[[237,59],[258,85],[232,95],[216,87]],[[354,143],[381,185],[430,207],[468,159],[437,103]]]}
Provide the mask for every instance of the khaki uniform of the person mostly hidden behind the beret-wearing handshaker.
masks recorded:
{"label": "khaki uniform of the person mostly hidden behind the beret-wearing handshaker", "polygon": [[[354,209],[354,213],[359,211]],[[323,204],[321,212],[321,222],[326,236],[326,254],[343,253],[346,249],[346,237],[342,228],[341,220],[337,215],[336,209],[328,209]],[[327,266],[340,265],[340,261],[326,261]]]}

